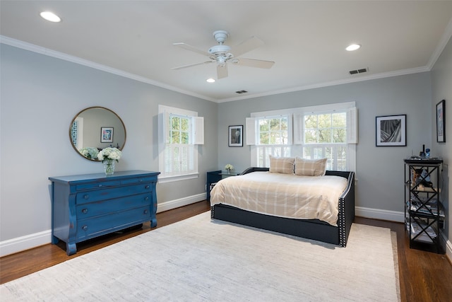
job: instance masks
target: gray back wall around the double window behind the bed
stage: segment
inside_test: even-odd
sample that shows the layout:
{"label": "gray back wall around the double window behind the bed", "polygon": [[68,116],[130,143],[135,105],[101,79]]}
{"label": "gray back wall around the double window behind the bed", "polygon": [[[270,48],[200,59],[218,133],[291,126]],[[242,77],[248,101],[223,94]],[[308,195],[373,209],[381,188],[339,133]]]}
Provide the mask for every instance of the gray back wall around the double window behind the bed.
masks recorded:
{"label": "gray back wall around the double window behind the bed", "polygon": [[[357,207],[403,212],[403,158],[432,147],[430,74],[410,74],[221,103],[218,109],[220,167],[250,165],[250,147],[228,148],[228,124],[244,124],[251,112],[355,101],[358,108]],[[407,146],[376,147],[375,117],[407,115]],[[246,139],[246,137],[245,137]],[[433,154],[434,155],[434,152]],[[403,217],[403,216],[402,216]]]}

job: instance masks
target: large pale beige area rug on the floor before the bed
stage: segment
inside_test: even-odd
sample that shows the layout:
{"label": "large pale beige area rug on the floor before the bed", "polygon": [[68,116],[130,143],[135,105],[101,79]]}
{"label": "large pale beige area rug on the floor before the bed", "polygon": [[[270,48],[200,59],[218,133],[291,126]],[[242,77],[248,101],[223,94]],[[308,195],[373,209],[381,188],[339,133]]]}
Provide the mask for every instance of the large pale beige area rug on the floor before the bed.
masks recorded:
{"label": "large pale beige area rug on the floor before the bed", "polygon": [[[396,260],[397,261],[397,260]],[[1,301],[398,301],[391,231],[347,248],[203,213],[0,287]]]}

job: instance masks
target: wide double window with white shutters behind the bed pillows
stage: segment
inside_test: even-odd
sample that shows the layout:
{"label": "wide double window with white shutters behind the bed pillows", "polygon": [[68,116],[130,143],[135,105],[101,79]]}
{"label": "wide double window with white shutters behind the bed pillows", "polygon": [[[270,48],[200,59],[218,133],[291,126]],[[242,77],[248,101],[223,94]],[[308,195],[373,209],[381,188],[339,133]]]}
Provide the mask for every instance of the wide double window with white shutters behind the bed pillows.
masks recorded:
{"label": "wide double window with white shutters behind the bed pillows", "polygon": [[328,158],[328,170],[355,171],[356,127],[355,102],[251,113],[246,119],[251,165],[268,167],[269,155],[299,156]]}

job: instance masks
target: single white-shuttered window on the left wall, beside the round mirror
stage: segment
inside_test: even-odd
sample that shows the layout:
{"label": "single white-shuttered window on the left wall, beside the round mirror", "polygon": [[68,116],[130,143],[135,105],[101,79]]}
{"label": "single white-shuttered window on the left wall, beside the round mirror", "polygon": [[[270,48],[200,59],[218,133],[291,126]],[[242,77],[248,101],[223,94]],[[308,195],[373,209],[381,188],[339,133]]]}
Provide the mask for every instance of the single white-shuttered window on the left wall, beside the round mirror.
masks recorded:
{"label": "single white-shuttered window on the left wall, beside the round mirror", "polygon": [[203,117],[198,112],[159,105],[160,179],[198,177],[198,144],[203,144]]}

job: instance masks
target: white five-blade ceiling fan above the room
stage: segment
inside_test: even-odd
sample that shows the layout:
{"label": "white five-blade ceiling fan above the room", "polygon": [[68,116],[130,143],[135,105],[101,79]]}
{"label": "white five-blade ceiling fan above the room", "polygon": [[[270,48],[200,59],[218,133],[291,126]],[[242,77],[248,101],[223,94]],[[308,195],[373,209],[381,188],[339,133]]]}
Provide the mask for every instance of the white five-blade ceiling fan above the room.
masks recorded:
{"label": "white five-blade ceiling fan above the room", "polygon": [[210,61],[174,67],[172,69],[183,69],[187,67],[216,62],[218,79],[223,79],[227,77],[227,62],[231,62],[232,64],[237,64],[241,66],[265,69],[269,69],[271,68],[271,66],[273,66],[273,64],[275,64],[275,62],[272,61],[239,58],[239,56],[241,56],[242,54],[250,52],[251,50],[254,50],[257,47],[263,45],[263,41],[258,39],[257,37],[254,36],[250,37],[248,40],[245,40],[241,44],[234,47],[234,50],[231,50],[231,47],[224,44],[227,37],[229,37],[229,33],[227,33],[227,31],[216,30],[215,32],[213,32],[213,37],[215,37],[215,40],[217,40],[218,45],[210,47],[210,49],[207,52],[204,50],[199,50],[198,48],[188,45],[184,42],[174,43],[173,45],[177,47],[182,47],[184,48],[184,50],[190,50],[192,52],[198,52],[198,54],[203,54],[207,56],[210,59]]}

